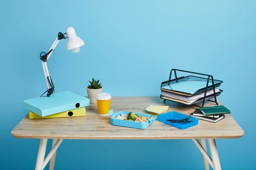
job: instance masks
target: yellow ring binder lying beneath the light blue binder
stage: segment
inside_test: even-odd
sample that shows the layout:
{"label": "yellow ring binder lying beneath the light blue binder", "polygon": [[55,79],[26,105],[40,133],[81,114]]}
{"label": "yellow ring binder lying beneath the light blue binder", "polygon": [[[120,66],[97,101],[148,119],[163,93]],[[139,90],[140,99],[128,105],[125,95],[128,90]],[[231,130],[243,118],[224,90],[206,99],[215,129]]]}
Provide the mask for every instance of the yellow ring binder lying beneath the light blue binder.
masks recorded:
{"label": "yellow ring binder lying beneath the light blue binder", "polygon": [[85,107],[83,108],[78,108],[78,109],[73,109],[70,111],[64,111],[61,113],[56,113],[56,114],[52,114],[49,116],[44,116],[41,117],[35,113],[33,113],[32,111],[29,111],[29,119],[46,119],[46,118],[57,118],[57,117],[76,117],[76,116],[85,116],[86,114],[86,110]]}

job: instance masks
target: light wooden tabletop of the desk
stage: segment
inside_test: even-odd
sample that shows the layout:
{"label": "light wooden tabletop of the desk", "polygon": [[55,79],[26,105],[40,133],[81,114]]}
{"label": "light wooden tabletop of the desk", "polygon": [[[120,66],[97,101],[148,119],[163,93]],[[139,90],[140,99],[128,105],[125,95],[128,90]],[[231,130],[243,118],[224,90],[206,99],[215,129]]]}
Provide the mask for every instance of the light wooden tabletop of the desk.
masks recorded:
{"label": "light wooden tabletop of the desk", "polygon": [[[114,112],[144,113],[149,105],[169,105],[168,111],[178,111],[187,115],[197,108],[170,101],[163,103],[163,99],[159,96],[113,97],[111,99],[111,108]],[[215,105],[215,103],[205,103],[205,106],[210,105]],[[244,135],[244,131],[230,114],[225,115],[225,118],[217,123],[199,120],[198,125],[184,130],[157,120],[144,130],[113,126],[110,117],[99,116],[97,105],[86,107],[86,116],[82,117],[30,120],[26,115],[12,130],[12,135],[16,138],[27,139],[228,139]]]}

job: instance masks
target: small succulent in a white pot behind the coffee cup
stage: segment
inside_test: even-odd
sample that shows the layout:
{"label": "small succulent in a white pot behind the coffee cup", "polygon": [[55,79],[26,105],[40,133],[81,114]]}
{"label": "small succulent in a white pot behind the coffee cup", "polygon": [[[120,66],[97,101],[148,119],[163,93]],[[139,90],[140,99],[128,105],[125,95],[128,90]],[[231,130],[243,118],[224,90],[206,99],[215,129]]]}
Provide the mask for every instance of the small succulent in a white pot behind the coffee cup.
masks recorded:
{"label": "small succulent in a white pot behind the coffee cup", "polygon": [[[90,82],[90,81],[89,81]],[[99,80],[93,79],[90,82],[90,85],[87,86],[86,88],[88,98],[90,99],[91,104],[96,104],[96,96],[100,93],[102,93],[102,84],[101,82],[99,83]]]}

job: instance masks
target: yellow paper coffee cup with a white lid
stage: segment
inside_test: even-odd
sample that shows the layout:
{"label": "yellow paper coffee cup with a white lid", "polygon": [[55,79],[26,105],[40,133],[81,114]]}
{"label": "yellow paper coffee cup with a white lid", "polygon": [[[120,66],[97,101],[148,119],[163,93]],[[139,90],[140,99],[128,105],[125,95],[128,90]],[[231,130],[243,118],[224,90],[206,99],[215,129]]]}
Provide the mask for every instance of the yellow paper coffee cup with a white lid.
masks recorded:
{"label": "yellow paper coffee cup with a white lid", "polygon": [[101,93],[96,96],[99,115],[107,116],[110,110],[111,96],[108,93]]}

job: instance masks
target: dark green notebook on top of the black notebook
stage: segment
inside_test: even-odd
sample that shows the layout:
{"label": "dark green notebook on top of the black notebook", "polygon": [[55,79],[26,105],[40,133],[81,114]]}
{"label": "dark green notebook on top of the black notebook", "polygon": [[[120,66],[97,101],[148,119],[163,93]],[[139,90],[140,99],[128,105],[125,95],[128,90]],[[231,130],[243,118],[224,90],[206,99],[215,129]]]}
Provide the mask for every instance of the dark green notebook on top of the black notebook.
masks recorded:
{"label": "dark green notebook on top of the black notebook", "polygon": [[212,106],[212,107],[201,107],[200,111],[204,115],[216,115],[216,114],[228,114],[231,113],[225,106]]}

